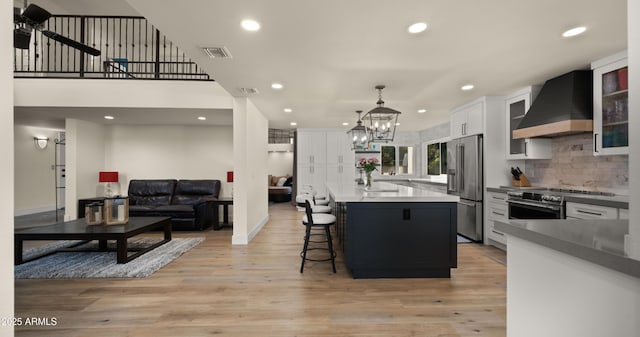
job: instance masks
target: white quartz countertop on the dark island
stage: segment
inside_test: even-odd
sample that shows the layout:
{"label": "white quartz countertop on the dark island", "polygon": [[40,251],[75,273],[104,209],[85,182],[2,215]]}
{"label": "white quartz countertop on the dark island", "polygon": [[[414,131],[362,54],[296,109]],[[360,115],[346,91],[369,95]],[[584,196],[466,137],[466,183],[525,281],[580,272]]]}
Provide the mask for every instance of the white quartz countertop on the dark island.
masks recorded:
{"label": "white quartz countertop on the dark island", "polygon": [[388,182],[376,182],[371,189],[355,182],[351,184],[327,184],[329,194],[336,202],[458,202],[455,195],[436,190],[418,189]]}

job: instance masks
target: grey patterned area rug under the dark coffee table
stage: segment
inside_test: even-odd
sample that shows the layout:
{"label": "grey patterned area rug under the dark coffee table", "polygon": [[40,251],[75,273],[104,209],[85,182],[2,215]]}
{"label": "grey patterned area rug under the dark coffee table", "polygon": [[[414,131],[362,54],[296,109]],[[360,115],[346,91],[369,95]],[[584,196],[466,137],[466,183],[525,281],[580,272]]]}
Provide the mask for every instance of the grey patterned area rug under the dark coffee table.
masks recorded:
{"label": "grey patterned area rug under the dark coffee table", "polygon": [[[129,240],[129,249],[148,247],[161,239],[133,238]],[[174,238],[166,244],[157,247],[129,263],[117,264],[116,252],[57,252],[18,266],[14,274],[18,279],[49,279],[49,278],[127,278],[147,277],[171,261],[178,258],[191,248],[204,241],[204,238]],[[58,241],[27,249],[24,257],[41,255],[60,248],[70,247],[78,241]],[[91,241],[73,249],[93,249],[96,241]],[[109,242],[109,248],[115,248],[115,242]]]}

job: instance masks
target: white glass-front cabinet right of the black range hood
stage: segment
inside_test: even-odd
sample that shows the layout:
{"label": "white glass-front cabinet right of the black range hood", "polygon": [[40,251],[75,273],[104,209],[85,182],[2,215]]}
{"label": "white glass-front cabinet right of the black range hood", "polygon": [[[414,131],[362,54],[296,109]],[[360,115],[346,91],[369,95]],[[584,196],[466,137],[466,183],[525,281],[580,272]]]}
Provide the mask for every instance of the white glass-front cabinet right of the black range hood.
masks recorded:
{"label": "white glass-front cabinet right of the black range hood", "polygon": [[593,62],[593,151],[629,154],[627,52]]}

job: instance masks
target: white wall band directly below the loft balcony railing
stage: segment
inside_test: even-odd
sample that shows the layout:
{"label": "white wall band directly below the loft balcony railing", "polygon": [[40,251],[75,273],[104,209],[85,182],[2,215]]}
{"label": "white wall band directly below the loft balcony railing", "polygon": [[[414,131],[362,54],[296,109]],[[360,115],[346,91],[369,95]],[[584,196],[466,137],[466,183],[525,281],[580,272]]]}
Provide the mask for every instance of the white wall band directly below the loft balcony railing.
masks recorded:
{"label": "white wall band directly below the loft balcony railing", "polygon": [[232,107],[231,97],[217,82],[18,78],[14,83],[16,106]]}

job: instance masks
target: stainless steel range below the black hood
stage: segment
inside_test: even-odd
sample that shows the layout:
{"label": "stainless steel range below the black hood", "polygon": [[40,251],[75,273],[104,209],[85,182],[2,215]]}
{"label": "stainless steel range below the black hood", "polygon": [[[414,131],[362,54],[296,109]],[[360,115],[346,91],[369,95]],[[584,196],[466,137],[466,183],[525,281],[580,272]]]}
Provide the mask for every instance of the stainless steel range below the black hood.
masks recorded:
{"label": "stainless steel range below the black hood", "polygon": [[561,192],[512,191],[507,195],[509,219],[564,219],[565,202]]}

